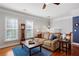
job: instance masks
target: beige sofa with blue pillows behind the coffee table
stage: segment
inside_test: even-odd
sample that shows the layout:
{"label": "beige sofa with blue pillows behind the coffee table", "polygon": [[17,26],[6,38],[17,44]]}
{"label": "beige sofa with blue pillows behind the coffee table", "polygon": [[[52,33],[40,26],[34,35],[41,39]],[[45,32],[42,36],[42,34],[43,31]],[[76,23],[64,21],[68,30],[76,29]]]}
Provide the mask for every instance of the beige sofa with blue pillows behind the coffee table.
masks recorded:
{"label": "beige sofa with blue pillows behind the coffee table", "polygon": [[54,33],[57,36],[57,38],[54,40],[49,39],[50,34],[52,34],[52,33],[45,32],[45,33],[43,33],[42,38],[34,38],[34,40],[39,43],[42,43],[43,44],[42,46],[44,48],[47,48],[51,51],[55,51],[59,47],[58,40],[61,39],[61,34]]}

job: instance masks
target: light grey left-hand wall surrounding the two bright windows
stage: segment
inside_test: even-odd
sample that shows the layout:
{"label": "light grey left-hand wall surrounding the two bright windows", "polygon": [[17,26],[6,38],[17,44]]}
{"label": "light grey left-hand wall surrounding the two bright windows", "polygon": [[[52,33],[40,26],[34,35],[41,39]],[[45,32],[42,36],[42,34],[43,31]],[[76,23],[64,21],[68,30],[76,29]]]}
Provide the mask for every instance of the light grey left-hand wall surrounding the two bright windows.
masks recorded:
{"label": "light grey left-hand wall surrounding the two bright windows", "polygon": [[19,43],[18,41],[5,42],[5,16],[7,15],[18,17],[18,22],[19,22],[18,41],[20,39],[20,24],[25,23],[26,20],[30,20],[34,22],[34,34],[37,29],[41,31],[43,30],[45,31],[44,27],[47,27],[48,25],[47,24],[48,19],[0,8],[0,48]]}

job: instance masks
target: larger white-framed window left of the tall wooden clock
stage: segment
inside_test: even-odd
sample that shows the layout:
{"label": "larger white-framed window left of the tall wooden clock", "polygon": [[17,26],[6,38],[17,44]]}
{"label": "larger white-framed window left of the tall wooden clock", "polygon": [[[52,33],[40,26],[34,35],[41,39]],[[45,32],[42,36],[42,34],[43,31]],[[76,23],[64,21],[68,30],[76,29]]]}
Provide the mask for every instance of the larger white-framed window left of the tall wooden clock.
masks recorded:
{"label": "larger white-framed window left of the tall wooden clock", "polygon": [[5,26],[5,41],[18,39],[18,19],[16,17],[6,17]]}

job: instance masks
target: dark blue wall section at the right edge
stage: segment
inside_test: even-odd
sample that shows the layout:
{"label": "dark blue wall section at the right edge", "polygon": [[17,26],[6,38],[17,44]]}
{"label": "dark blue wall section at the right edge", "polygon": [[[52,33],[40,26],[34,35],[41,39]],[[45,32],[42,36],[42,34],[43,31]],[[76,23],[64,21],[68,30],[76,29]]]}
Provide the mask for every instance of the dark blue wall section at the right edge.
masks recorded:
{"label": "dark blue wall section at the right edge", "polygon": [[79,16],[73,17],[73,42],[79,43]]}

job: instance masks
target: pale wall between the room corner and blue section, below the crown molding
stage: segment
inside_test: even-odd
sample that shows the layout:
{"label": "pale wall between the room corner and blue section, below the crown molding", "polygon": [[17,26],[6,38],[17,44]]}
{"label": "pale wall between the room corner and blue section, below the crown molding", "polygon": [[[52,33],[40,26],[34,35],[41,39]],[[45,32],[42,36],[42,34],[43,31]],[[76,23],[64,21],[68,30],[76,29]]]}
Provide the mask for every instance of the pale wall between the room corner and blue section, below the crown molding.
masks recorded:
{"label": "pale wall between the room corner and blue section, below the crown molding", "polygon": [[52,20],[51,19],[51,28],[56,30],[61,30],[62,33],[72,32],[72,17],[66,16]]}

